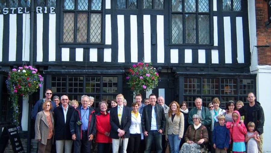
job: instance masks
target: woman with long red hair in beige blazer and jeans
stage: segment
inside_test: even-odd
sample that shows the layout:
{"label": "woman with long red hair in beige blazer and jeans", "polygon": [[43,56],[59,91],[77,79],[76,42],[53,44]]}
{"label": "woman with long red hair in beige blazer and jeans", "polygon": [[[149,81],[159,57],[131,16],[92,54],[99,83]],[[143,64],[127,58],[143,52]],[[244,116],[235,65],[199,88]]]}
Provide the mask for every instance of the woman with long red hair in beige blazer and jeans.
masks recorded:
{"label": "woman with long red hair in beige blazer and jeans", "polygon": [[170,152],[178,153],[184,131],[184,116],[176,101],[171,102],[169,107],[166,116],[166,140],[169,141]]}

